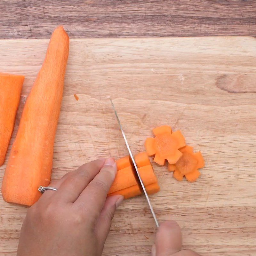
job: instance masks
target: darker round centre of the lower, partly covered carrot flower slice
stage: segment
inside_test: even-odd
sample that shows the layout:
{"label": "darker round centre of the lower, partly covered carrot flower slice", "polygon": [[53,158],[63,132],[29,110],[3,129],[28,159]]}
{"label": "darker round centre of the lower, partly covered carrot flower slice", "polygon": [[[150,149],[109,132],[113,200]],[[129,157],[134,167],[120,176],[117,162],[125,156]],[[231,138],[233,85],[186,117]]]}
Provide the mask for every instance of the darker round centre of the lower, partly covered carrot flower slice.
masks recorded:
{"label": "darker round centre of the lower, partly covered carrot flower slice", "polygon": [[196,169],[197,159],[192,154],[184,152],[178,162],[175,164],[176,169],[182,174],[187,174]]}

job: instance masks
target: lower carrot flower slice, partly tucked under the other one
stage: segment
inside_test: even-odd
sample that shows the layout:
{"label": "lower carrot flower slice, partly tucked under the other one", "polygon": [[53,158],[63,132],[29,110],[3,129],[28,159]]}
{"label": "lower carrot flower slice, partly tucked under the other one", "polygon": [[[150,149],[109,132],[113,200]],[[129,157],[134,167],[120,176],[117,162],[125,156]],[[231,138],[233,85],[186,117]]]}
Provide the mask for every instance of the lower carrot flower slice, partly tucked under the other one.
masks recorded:
{"label": "lower carrot flower slice, partly tucked under the other one", "polygon": [[176,164],[168,164],[168,170],[174,171],[173,177],[176,180],[183,180],[185,175],[188,181],[196,181],[200,176],[198,169],[204,167],[204,158],[201,152],[193,153],[193,148],[190,146],[180,148],[180,152],[182,156]]}

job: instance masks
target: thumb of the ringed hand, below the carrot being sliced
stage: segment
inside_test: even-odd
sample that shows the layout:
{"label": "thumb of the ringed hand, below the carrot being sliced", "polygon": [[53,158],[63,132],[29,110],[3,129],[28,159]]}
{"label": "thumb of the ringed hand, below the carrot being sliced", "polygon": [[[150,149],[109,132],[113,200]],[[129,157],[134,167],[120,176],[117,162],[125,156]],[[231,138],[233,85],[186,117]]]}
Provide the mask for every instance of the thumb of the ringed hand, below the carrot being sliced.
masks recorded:
{"label": "thumb of the ringed hand, below the carrot being sliced", "polygon": [[102,249],[107,239],[111,227],[111,221],[116,212],[116,208],[122,203],[123,200],[124,196],[122,195],[107,197],[106,202],[102,208],[102,211],[100,212],[99,219],[95,225],[95,232],[99,239],[99,246],[100,248],[102,246]]}

